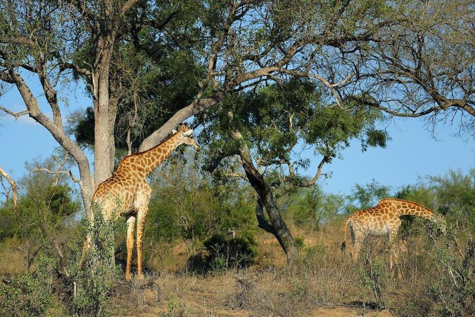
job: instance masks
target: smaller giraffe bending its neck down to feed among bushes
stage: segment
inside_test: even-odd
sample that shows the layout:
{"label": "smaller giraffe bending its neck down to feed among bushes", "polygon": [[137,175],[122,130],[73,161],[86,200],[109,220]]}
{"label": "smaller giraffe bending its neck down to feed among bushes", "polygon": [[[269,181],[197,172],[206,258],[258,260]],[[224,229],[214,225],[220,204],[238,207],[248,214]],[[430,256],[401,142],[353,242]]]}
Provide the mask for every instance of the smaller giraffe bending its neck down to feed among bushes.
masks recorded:
{"label": "smaller giraffe bending its neck down to feed among bushes", "polygon": [[[345,239],[348,223],[351,229],[351,256],[353,260],[358,258],[358,254],[363,246],[363,240],[367,236],[388,236],[392,245],[401,225],[402,215],[412,215],[426,219],[436,220],[438,215],[429,208],[409,200],[397,198],[383,198],[379,203],[371,208],[363,209],[351,215],[345,223]],[[346,247],[343,241],[341,249]],[[391,247],[390,269],[393,268],[393,257],[397,258],[395,250]]]}

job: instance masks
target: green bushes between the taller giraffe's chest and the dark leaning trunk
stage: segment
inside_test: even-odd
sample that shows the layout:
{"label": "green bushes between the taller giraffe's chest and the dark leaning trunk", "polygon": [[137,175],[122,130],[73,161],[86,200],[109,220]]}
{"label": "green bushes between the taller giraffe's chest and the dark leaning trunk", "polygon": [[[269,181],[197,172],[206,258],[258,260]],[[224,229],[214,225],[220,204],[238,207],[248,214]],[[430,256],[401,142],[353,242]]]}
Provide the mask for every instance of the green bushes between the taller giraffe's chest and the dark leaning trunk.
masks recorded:
{"label": "green bushes between the taller giraffe's chest and the dark leaning trunk", "polygon": [[145,239],[154,243],[199,244],[212,234],[248,236],[255,227],[255,206],[248,199],[248,189],[214,185],[188,159],[162,165],[151,186]]}

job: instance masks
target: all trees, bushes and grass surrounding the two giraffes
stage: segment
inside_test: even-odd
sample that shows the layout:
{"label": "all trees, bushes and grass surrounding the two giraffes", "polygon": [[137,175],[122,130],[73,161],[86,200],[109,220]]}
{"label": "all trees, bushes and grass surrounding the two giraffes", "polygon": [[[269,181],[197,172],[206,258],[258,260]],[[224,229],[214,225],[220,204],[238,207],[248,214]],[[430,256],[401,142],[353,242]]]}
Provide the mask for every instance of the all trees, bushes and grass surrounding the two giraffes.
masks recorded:
{"label": "all trees, bushes and grass surrounding the two giraffes", "polygon": [[[20,179],[0,169],[0,314],[473,315],[475,170],[347,196],[321,181],[355,140],[387,147],[397,135],[381,123],[397,117],[473,138],[474,9],[0,0],[0,97],[24,105],[0,110],[60,146]],[[90,102],[75,106],[72,91]],[[149,176],[146,278],[123,282],[125,222],[106,221],[93,194],[124,155],[186,120],[202,151],[181,148]],[[384,196],[448,223],[405,218],[391,272],[385,241],[368,241],[358,263],[339,248],[346,216]]]}

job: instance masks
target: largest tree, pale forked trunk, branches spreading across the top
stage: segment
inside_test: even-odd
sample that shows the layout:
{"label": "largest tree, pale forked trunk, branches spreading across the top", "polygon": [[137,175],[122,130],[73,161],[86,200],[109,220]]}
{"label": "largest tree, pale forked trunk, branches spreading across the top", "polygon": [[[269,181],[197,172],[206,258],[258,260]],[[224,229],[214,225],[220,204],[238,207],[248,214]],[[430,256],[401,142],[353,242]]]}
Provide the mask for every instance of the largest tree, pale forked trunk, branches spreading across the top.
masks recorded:
{"label": "largest tree, pale forked trunk, branches spreading across the top", "polygon": [[[95,188],[113,172],[118,113],[128,128],[142,123],[134,144],[143,151],[230,94],[302,77],[323,84],[335,111],[348,111],[350,99],[397,116],[453,110],[472,127],[473,10],[462,0],[2,0],[0,80],[26,106],[2,109],[27,114],[71,154],[92,221]],[[52,118],[25,80],[31,74]],[[93,100],[94,174],[63,126],[72,78]],[[187,94],[164,98],[170,87]]]}

